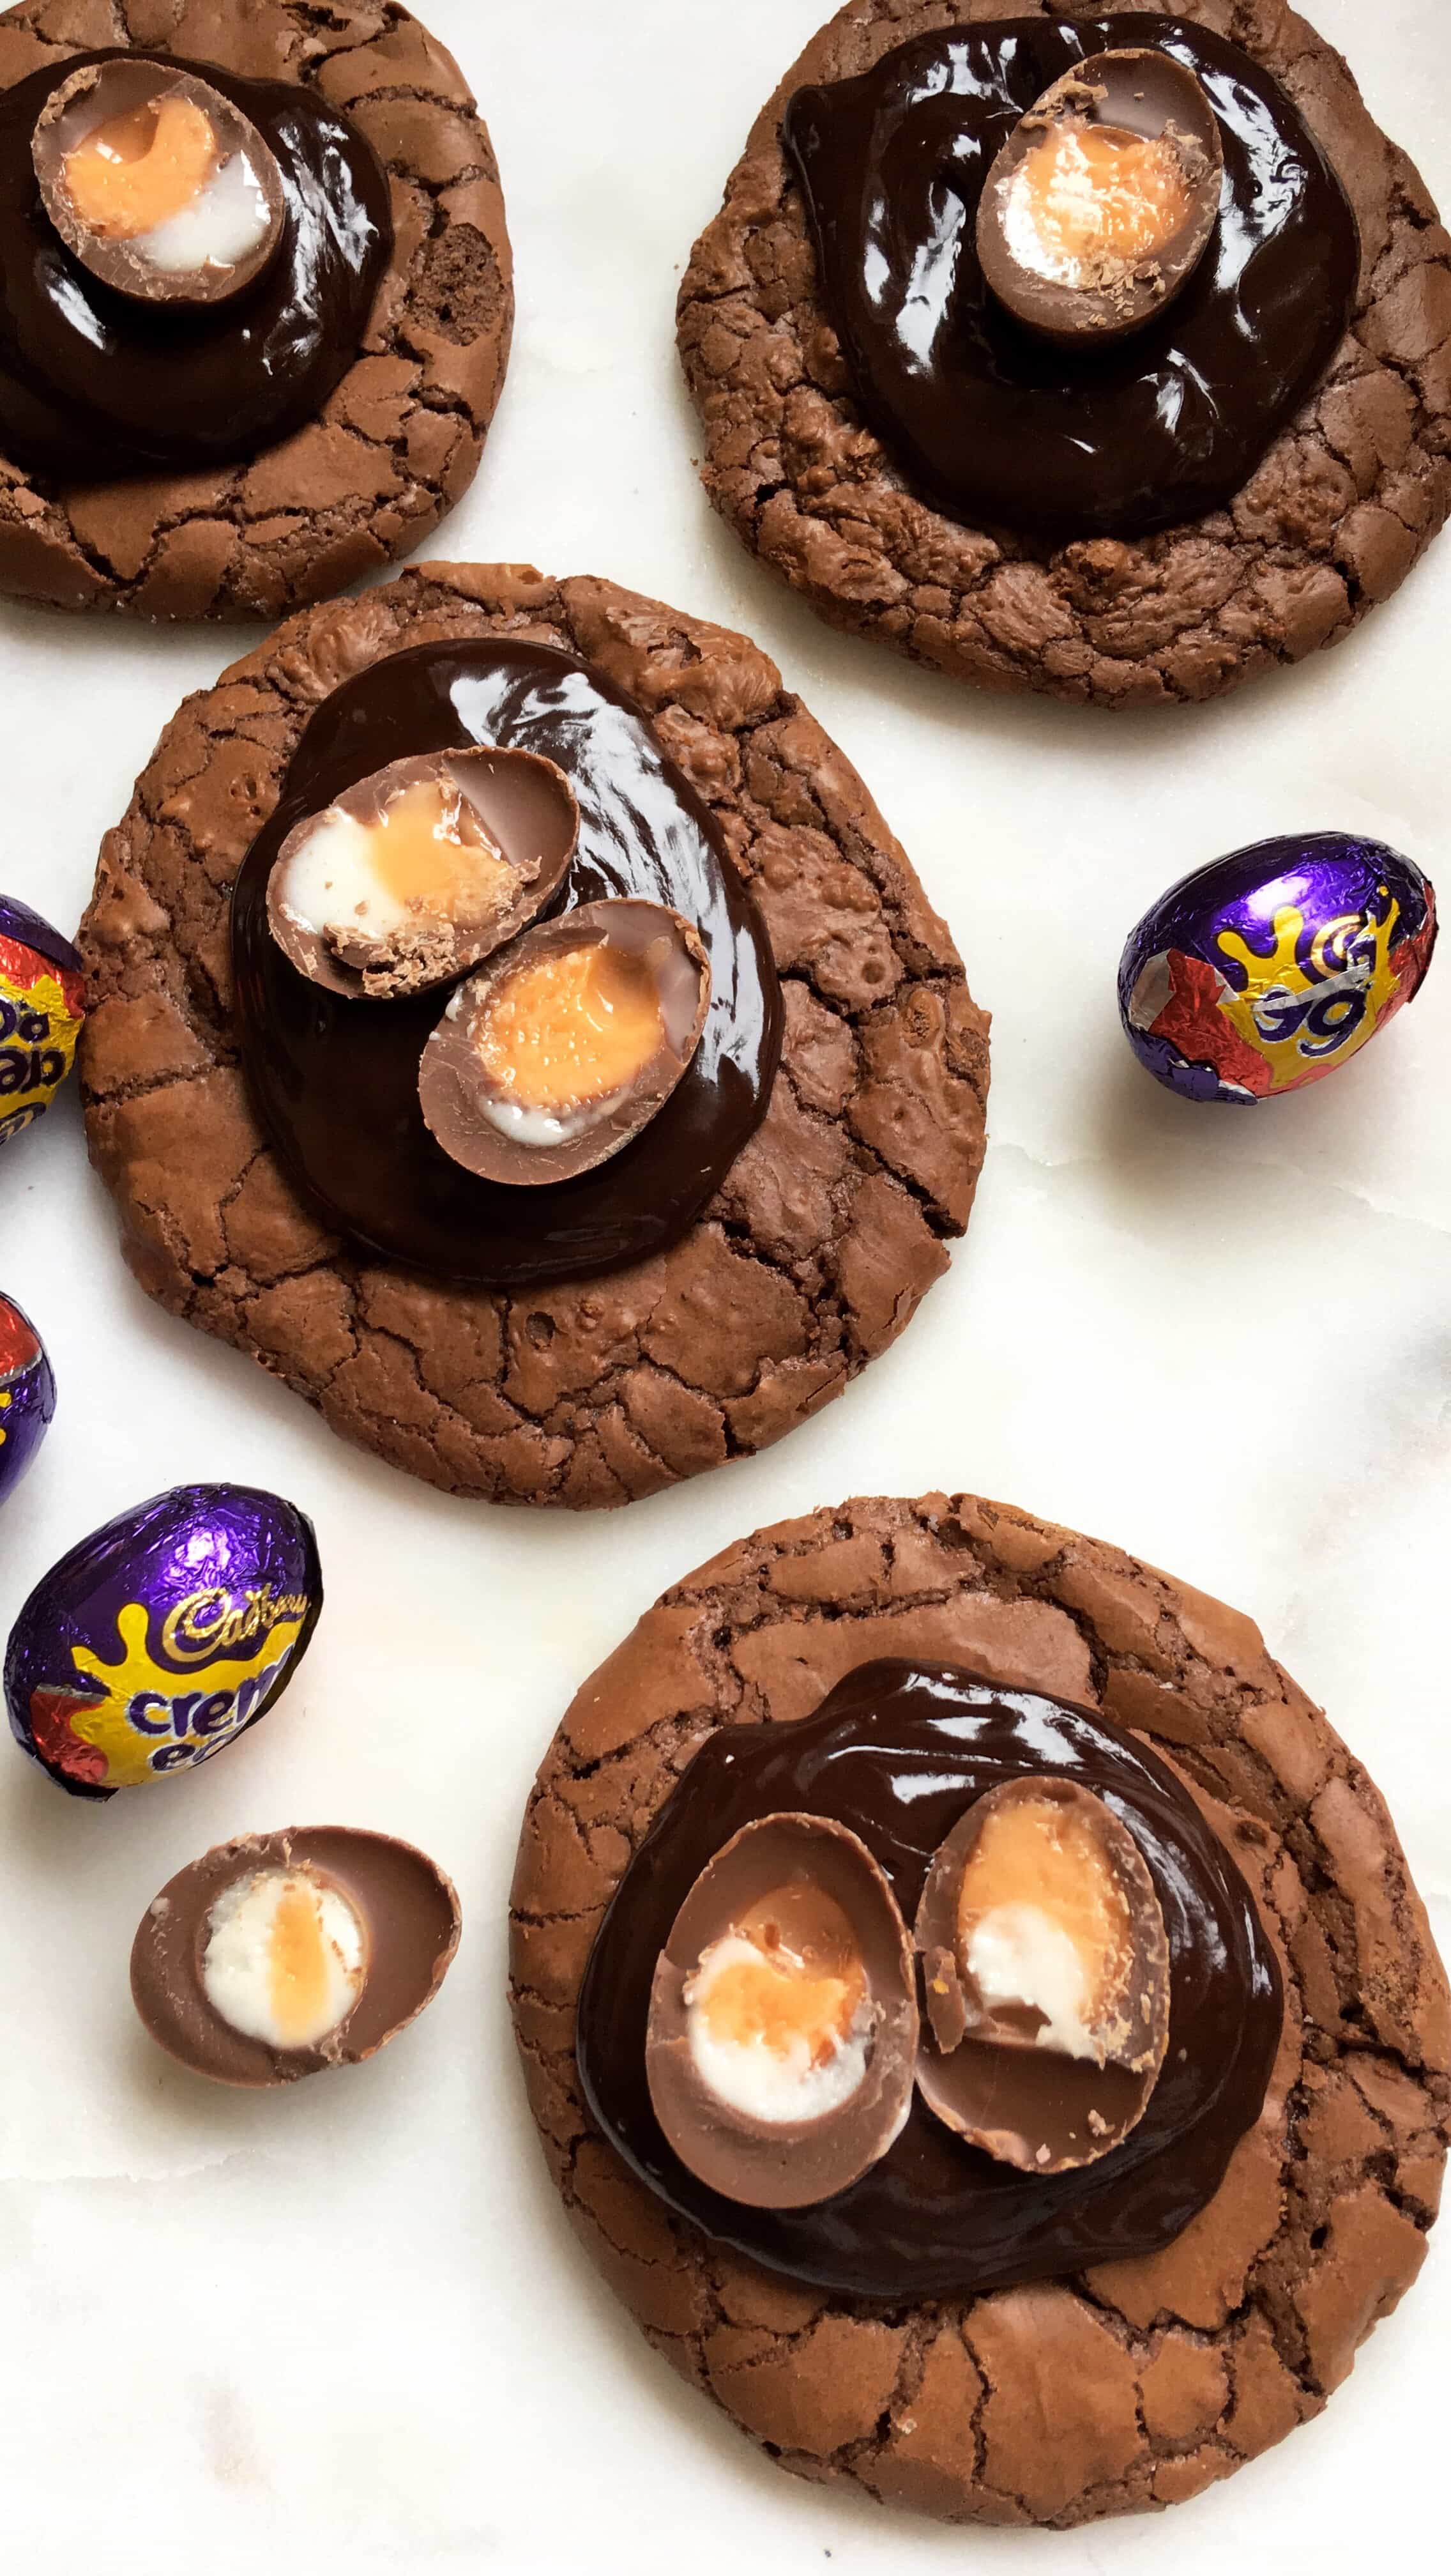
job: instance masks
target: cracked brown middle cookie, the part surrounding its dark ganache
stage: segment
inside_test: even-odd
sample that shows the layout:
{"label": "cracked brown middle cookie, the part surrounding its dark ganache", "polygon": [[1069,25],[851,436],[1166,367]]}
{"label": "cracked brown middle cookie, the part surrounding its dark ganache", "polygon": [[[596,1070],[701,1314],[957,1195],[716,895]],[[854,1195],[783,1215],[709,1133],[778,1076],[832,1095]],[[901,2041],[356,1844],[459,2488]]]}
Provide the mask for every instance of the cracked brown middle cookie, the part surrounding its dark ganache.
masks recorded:
{"label": "cracked brown middle cookie, the part surrounding its dark ganache", "polygon": [[[644,711],[655,757],[750,889],[783,1005],[765,1115],[683,1236],[598,1278],[513,1291],[379,1260],[299,1195],[242,1072],[229,938],[232,886],[307,721],[351,703],[345,688],[384,657],[500,641],[577,654]],[[90,1151],[142,1285],[250,1350],[348,1440],[459,1494],[613,1504],[765,1448],[897,1337],[966,1226],[987,1023],[948,933],[765,654],[608,582],[425,564],[291,618],[168,726],[106,840],[82,953]],[[327,997],[302,994],[307,1030]],[[425,1149],[418,1131],[397,1190]],[[559,1188],[588,1190],[590,1175]],[[407,1224],[394,1231],[410,1242]]]}

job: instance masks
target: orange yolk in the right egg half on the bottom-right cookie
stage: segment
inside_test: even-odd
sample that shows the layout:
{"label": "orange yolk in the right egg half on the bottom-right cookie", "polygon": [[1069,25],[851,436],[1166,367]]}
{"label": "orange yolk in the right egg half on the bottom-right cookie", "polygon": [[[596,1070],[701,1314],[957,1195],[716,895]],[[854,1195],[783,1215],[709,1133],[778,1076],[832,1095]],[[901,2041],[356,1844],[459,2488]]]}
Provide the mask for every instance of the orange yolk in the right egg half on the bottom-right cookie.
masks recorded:
{"label": "orange yolk in the right egg half on the bottom-right cookie", "polygon": [[1134,1932],[1129,1899],[1100,1837],[1054,1798],[1021,1798],[987,1816],[966,1855],[956,1899],[959,1950],[997,1906],[1031,1906],[1054,1922],[1082,1960],[1088,2014],[1121,1994]]}

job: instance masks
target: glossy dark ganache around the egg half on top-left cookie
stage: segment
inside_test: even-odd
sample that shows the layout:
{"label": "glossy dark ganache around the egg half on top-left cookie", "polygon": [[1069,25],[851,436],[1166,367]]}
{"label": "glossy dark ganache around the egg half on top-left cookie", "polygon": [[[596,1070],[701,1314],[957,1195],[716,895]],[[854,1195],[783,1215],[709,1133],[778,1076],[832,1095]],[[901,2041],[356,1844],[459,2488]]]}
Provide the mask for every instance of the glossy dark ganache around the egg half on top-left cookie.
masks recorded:
{"label": "glossy dark ganache around the egg half on top-left cookie", "polygon": [[358,355],[392,252],[387,175],[340,108],[296,82],[147,59],[258,129],[281,178],[281,240],[227,301],[121,294],[46,216],[31,144],[62,82],[134,54],[72,54],[0,95],[0,446],[57,479],[235,464],[314,420]]}

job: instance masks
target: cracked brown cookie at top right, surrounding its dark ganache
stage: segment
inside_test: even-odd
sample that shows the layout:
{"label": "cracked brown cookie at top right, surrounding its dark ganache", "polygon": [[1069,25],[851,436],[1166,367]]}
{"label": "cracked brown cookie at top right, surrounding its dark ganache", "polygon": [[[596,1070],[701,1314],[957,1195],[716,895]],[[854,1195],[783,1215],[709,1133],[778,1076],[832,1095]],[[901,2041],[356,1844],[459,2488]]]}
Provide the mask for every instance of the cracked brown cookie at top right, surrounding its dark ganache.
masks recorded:
{"label": "cracked brown cookie at top right, surrounding its dark ganache", "polygon": [[[1015,8],[1008,0],[850,0],[763,108],[722,214],[696,245],[680,289],[680,353],[706,425],[704,482],[714,505],[835,626],[881,636],[977,688],[1033,688],[1098,706],[1173,706],[1222,696],[1258,670],[1335,644],[1397,590],[1451,507],[1451,245],[1417,173],[1379,134],[1340,57],[1283,0],[1186,0],[1175,13],[1191,33],[1204,31],[1204,49],[1229,41],[1278,82],[1289,116],[1309,129],[1307,152],[1320,147],[1330,162],[1327,188],[1340,209],[1348,198],[1361,260],[1353,281],[1353,227],[1340,211],[1350,245],[1348,330],[1327,371],[1307,348],[1309,374],[1302,376],[1314,384],[1320,374],[1322,381],[1302,399],[1286,376],[1278,389],[1283,425],[1247,479],[1216,507],[1180,507],[1175,526],[1165,526],[1160,513],[1147,533],[1119,526],[1103,533],[1090,526],[1088,505],[1070,526],[1031,528],[1023,515],[992,518],[961,500],[948,515],[925,497],[930,474],[905,471],[905,443],[894,446],[884,428],[881,384],[876,404],[858,399],[786,142],[794,93],[807,88],[809,113],[830,134],[832,98],[843,95],[835,85],[871,72],[912,39],[938,36],[946,44],[961,31],[977,41],[974,31],[1008,18],[1044,28],[1072,21],[1085,23],[1082,44],[1093,52],[1113,41],[1119,15],[1131,21],[1121,41],[1142,41],[1137,28],[1149,21],[1131,0],[1129,8],[1121,0],[1095,0],[1093,8],[1075,0],[1021,0]],[[982,80],[990,82],[990,75],[982,72]],[[1031,93],[1031,82],[1026,88]],[[925,75],[923,90],[930,90]],[[1219,88],[1222,111],[1224,98]],[[897,100],[887,106],[897,113]],[[1031,95],[1015,106],[1031,106]],[[812,149],[812,134],[796,142]],[[899,149],[905,155],[905,144]],[[843,142],[843,173],[850,175],[858,162],[848,167],[848,160]],[[1286,155],[1289,162],[1294,155]],[[905,157],[894,167],[905,170]],[[964,188],[979,175],[964,178]],[[840,196],[845,206],[845,178]],[[861,183],[858,201],[866,201]],[[1312,224],[1317,255],[1322,219],[1330,224],[1330,216],[1327,198]],[[843,216],[838,234],[845,229]],[[1304,273],[1307,258],[1296,252],[1291,268]],[[941,258],[923,268],[928,281],[938,273]],[[1168,332],[1170,322],[1155,330]],[[1265,348],[1281,322],[1283,304],[1276,301]],[[1314,299],[1304,327],[1317,327]],[[985,330],[997,330],[997,322]],[[902,350],[910,340],[902,325]],[[946,345],[948,363],[956,363],[961,337]],[[1026,384],[1046,381],[1039,361],[1021,363]],[[1093,358],[1090,366],[1108,361]],[[905,355],[902,368],[912,374]],[[1173,392],[1170,420],[1180,417],[1186,386]],[[1299,402],[1289,417],[1286,399]],[[1219,435],[1222,412],[1224,404],[1206,410],[1206,440]],[[1144,422],[1147,412],[1139,428]],[[936,428],[943,448],[956,438],[961,461],[961,415],[951,402]],[[974,469],[982,453],[977,440]],[[1116,430],[1108,430],[1103,453],[1124,453]],[[1193,487],[1196,456],[1198,448],[1180,433],[1186,487]],[[1015,477],[1018,487],[1031,484],[1033,438],[1003,435],[997,464],[1003,482]],[[1046,482],[1044,471],[1044,495]],[[1028,502],[1044,495],[1028,492]]]}

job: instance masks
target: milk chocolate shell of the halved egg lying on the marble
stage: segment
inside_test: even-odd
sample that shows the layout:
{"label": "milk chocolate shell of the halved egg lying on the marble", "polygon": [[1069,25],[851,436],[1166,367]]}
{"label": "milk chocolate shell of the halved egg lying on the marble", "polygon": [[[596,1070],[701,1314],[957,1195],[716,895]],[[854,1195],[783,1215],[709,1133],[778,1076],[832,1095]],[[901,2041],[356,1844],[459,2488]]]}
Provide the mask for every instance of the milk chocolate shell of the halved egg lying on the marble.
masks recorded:
{"label": "milk chocolate shell of the halved egg lying on the marble", "polygon": [[[237,2027],[209,1994],[209,1947],[216,1940],[219,1906],[247,1893],[255,1880],[291,1880],[314,1893],[335,1893],[343,1922],[358,1927],[356,1955],[348,1958],[356,1999],[317,2040],[286,2045],[276,2035]],[[289,1976],[286,1935],[273,1935],[271,1976]],[[242,1945],[237,1945],[242,1950]],[[325,2066],[356,2066],[387,2048],[407,2022],[418,2020],[443,1984],[459,1947],[459,1896],[443,1870],[410,1842],[392,1834],[366,1834],[343,1824],[289,1826],[281,1834],[245,1834],[222,1842],[165,1883],[137,1927],[131,1945],[131,1996],[152,2040],[216,2084],[294,2084]],[[235,1963],[229,1963],[235,1965]],[[247,1942],[245,1968],[255,1965]],[[211,1984],[219,1986],[214,1978]],[[296,1984],[296,1976],[294,1976]],[[250,2020],[268,2020],[247,2012]],[[276,2007],[283,2009],[286,2004]],[[291,2007],[294,2009],[294,2007]]]}

